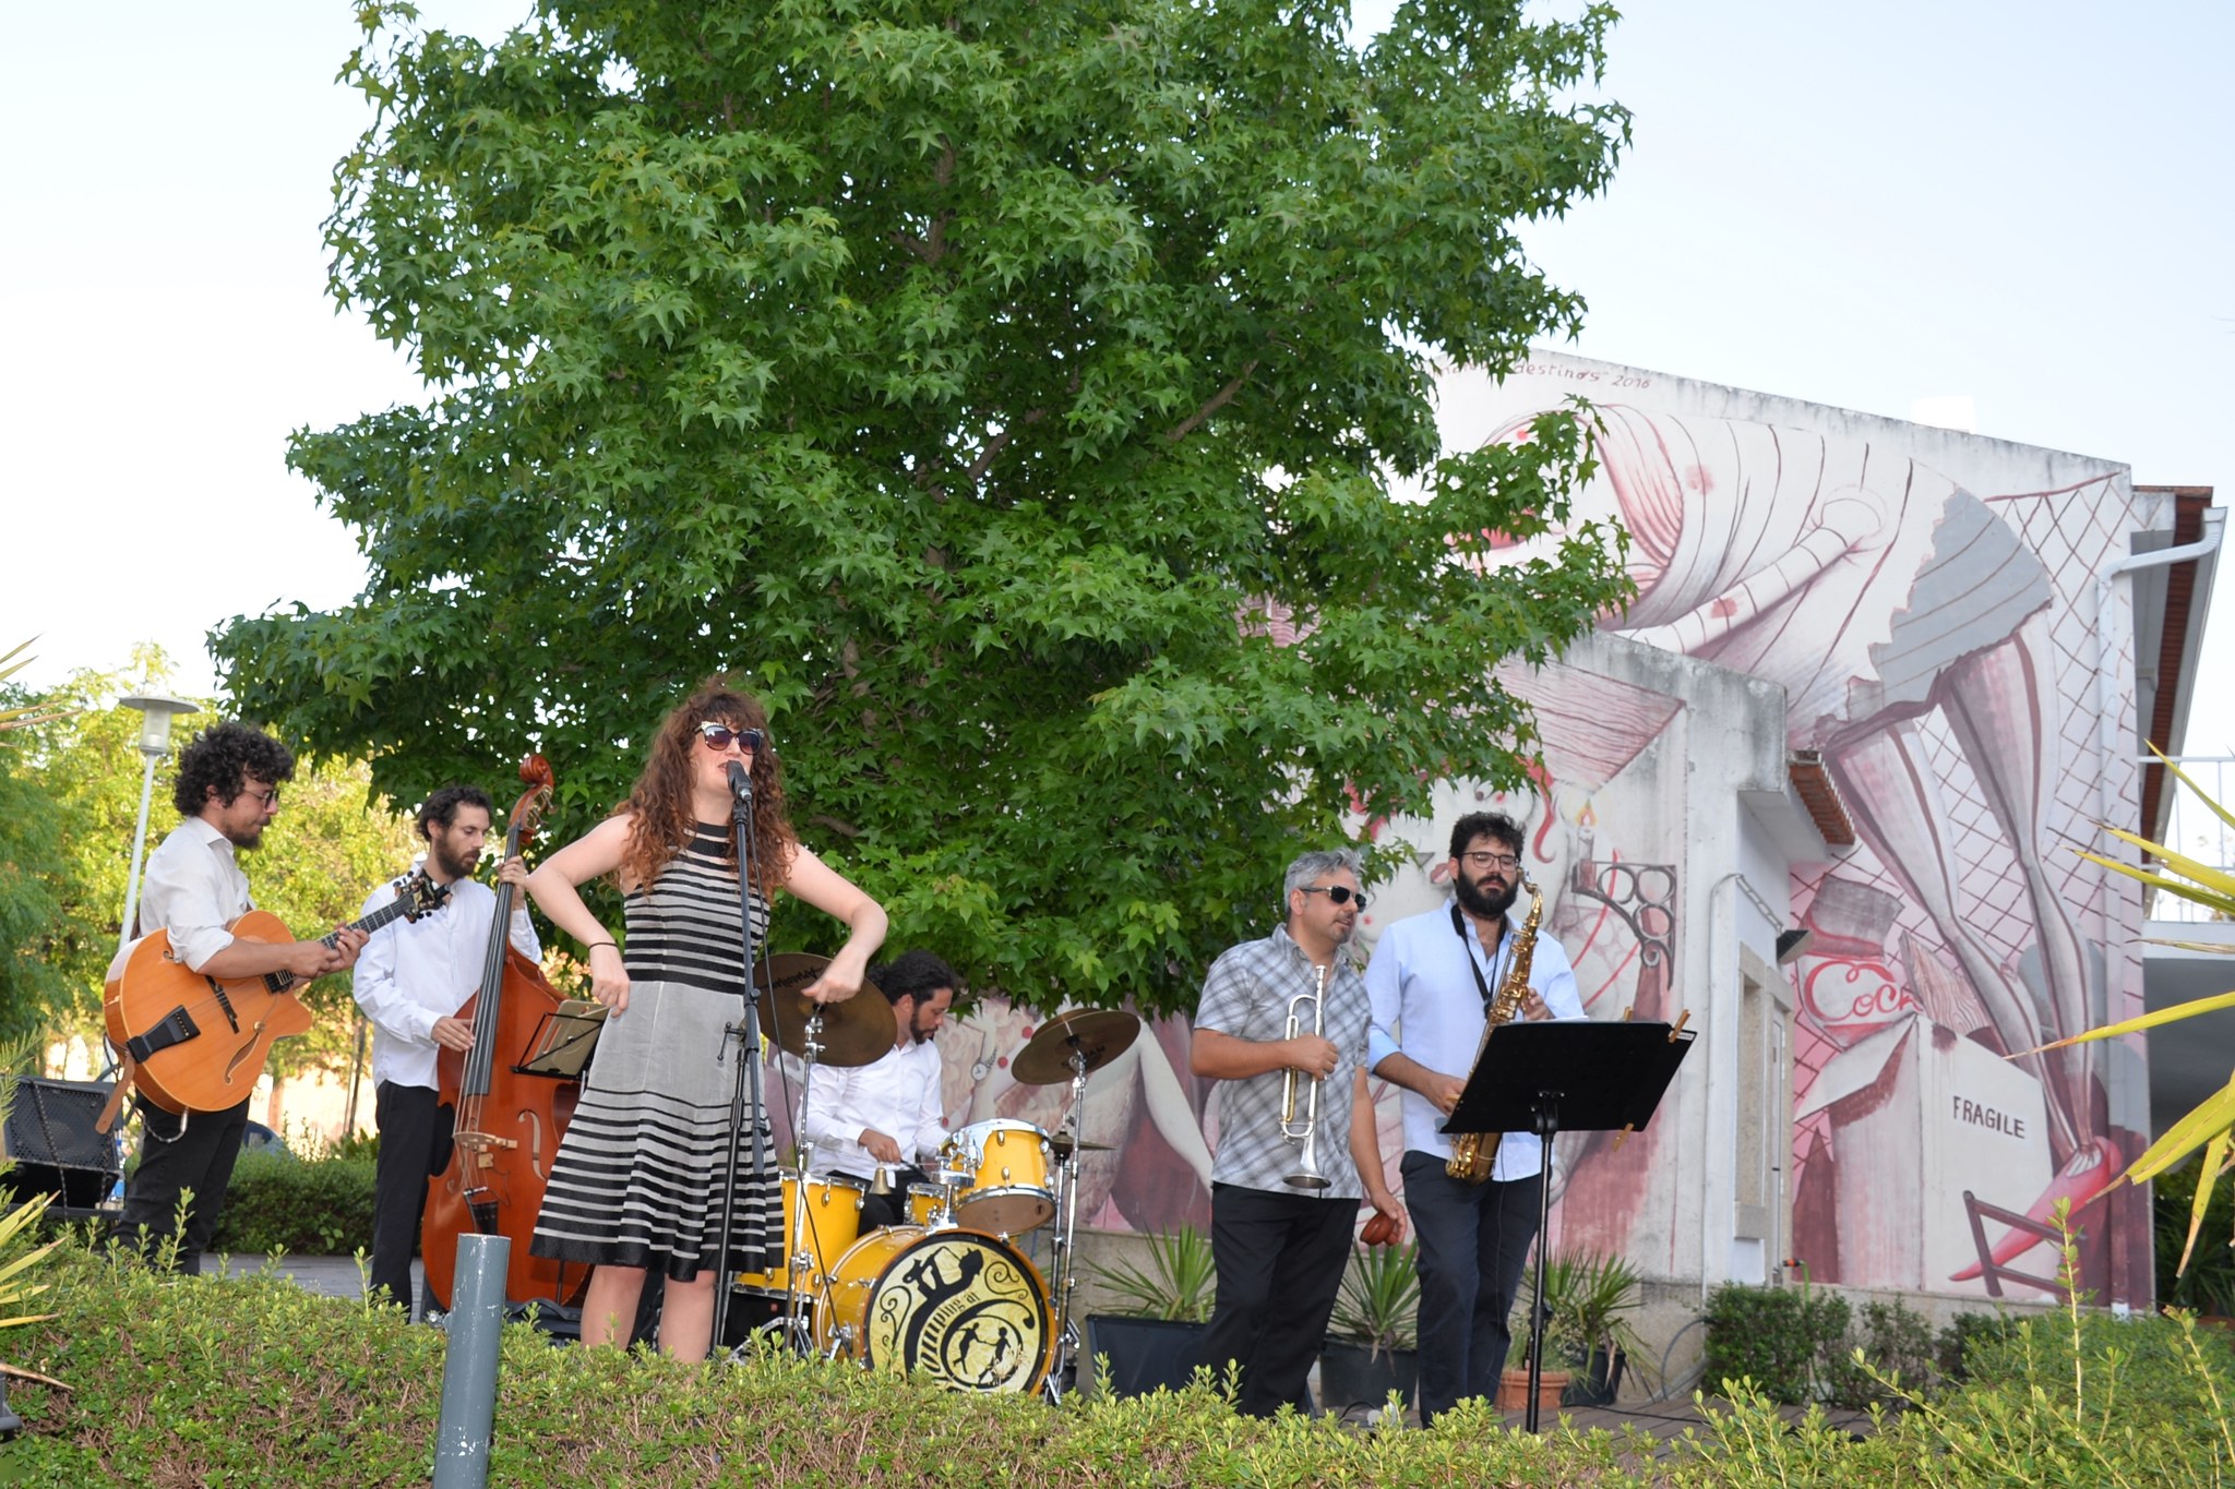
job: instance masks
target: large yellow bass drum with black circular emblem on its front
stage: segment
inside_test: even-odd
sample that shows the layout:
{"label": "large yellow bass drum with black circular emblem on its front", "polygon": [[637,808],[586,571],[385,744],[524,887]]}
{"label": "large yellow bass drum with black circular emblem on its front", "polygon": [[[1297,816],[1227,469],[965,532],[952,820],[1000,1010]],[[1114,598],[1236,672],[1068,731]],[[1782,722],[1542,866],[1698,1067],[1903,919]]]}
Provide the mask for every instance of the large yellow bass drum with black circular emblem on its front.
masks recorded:
{"label": "large yellow bass drum with black circular emblem on its front", "polygon": [[872,1230],[816,1299],[816,1348],[952,1391],[1035,1391],[1055,1364],[1048,1288],[974,1230]]}

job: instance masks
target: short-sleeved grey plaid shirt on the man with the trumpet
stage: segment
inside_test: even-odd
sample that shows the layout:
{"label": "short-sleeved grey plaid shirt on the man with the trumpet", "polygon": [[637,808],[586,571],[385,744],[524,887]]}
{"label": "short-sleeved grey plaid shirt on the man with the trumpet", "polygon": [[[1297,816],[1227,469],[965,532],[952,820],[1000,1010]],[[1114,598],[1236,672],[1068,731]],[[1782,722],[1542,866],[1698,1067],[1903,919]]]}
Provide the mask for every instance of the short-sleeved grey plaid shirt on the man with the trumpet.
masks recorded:
{"label": "short-sleeved grey plaid shirt on the man with the trumpet", "polygon": [[[1287,926],[1256,942],[1243,942],[1211,962],[1196,1005],[1196,1027],[1216,1029],[1229,1038],[1272,1043],[1287,1036],[1287,1002],[1319,984],[1319,969],[1290,938]],[[1287,1072],[1265,1072],[1247,1080],[1220,1080],[1218,1159],[1211,1163],[1216,1183],[1236,1183],[1274,1194],[1316,1194],[1321,1199],[1361,1199],[1357,1165],[1350,1161],[1350,1085],[1366,1065],[1368,1027],[1366,978],[1348,955],[1337,953],[1328,969],[1325,1036],[1341,1054],[1341,1065],[1319,1089],[1319,1136],[1314,1156],[1330,1179],[1325,1190],[1299,1190],[1283,1183],[1301,1163],[1301,1143],[1281,1136],[1281,1087]],[[1303,1005],[1303,1029],[1310,1031],[1310,1005]],[[1299,1076],[1296,1121],[1303,1121],[1312,1094],[1310,1078]]]}

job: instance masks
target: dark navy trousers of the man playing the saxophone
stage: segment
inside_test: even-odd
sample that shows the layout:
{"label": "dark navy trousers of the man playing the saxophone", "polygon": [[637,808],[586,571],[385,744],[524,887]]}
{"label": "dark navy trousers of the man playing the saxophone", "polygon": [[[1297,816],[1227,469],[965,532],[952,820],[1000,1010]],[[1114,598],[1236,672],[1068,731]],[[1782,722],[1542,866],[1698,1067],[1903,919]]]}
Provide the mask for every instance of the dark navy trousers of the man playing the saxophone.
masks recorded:
{"label": "dark navy trousers of the man playing the saxophone", "polygon": [[1419,1420],[1459,1397],[1497,1400],[1513,1335],[1506,1315],[1535,1239],[1544,1174],[1466,1183],[1444,1161],[1408,1152],[1404,1203],[1419,1237]]}

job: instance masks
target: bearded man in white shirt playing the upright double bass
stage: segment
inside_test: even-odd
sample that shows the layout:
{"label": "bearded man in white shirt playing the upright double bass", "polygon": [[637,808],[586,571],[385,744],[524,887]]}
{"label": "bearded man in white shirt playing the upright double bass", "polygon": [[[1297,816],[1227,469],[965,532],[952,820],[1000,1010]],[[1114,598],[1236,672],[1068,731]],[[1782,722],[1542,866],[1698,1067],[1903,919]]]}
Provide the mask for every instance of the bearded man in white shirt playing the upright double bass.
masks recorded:
{"label": "bearded man in white shirt playing the upright double bass", "polygon": [[[478,786],[445,786],[427,797],[418,833],[427,839],[422,873],[449,886],[443,909],[409,922],[384,924],[364,947],[351,991],[373,1025],[373,1121],[380,1161],[373,1170],[373,1297],[411,1308],[411,1248],[427,1214],[427,1181],[449,1165],[451,1109],[438,1103],[436,1049],[472,1049],[474,1025],[458,1005],[474,996],[496,893],[474,880],[489,842],[489,795]],[[523,884],[527,864],[505,859],[505,884]],[[371,915],[396,897],[382,884],[364,902]],[[505,926],[530,962],[543,958],[527,920],[527,895]]]}

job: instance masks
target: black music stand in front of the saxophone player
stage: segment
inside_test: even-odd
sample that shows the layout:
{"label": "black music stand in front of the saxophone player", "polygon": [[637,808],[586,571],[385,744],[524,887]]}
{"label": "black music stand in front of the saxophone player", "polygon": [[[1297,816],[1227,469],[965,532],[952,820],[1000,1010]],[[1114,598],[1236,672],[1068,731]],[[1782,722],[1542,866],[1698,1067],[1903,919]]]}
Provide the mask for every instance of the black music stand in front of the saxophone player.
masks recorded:
{"label": "black music stand in front of the saxophone player", "polygon": [[1551,1141],[1562,1132],[1645,1127],[1683,1065],[1692,1034],[1663,1022],[1511,1022],[1491,1029],[1475,1074],[1442,1132],[1533,1132],[1544,1141],[1538,1185],[1535,1306],[1529,1310],[1529,1418],[1538,1429],[1544,1373],[1544,1230],[1551,1223]]}

